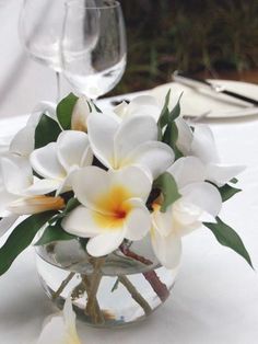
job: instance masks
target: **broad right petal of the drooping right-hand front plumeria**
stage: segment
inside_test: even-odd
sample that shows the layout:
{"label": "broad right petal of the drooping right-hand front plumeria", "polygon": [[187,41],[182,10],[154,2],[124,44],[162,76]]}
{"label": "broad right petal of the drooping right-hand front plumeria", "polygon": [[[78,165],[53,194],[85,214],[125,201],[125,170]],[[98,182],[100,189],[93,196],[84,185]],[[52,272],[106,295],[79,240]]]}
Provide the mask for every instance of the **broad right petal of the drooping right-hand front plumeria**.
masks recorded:
{"label": "broad right petal of the drooping right-hand front plumeria", "polygon": [[219,191],[210,183],[192,183],[180,190],[185,202],[189,202],[200,209],[215,217],[222,207]]}

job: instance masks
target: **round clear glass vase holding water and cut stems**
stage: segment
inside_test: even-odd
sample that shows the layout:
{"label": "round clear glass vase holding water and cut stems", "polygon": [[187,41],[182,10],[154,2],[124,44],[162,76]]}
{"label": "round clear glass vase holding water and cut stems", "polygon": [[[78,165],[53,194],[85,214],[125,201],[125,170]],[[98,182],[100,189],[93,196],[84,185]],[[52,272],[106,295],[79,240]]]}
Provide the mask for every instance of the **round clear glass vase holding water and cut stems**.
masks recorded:
{"label": "round clear glass vase holding water and cut stems", "polygon": [[145,319],[167,299],[178,270],[159,264],[150,238],[97,259],[86,253],[84,240],[54,242],[36,253],[48,297],[60,309],[71,297],[78,318],[98,328]]}

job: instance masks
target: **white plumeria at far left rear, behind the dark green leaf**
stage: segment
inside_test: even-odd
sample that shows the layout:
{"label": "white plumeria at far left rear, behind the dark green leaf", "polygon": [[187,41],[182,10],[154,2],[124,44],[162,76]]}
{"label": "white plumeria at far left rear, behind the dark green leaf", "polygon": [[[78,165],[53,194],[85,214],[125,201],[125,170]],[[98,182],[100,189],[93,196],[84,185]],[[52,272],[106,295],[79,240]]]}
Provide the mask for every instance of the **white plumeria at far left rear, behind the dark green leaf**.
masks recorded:
{"label": "white plumeria at far left rear, behind the dark green leaf", "polygon": [[35,146],[35,129],[43,113],[57,121],[55,104],[50,102],[40,102],[34,108],[26,126],[19,130],[13,137],[9,148],[11,153],[21,157],[28,157],[31,154]]}

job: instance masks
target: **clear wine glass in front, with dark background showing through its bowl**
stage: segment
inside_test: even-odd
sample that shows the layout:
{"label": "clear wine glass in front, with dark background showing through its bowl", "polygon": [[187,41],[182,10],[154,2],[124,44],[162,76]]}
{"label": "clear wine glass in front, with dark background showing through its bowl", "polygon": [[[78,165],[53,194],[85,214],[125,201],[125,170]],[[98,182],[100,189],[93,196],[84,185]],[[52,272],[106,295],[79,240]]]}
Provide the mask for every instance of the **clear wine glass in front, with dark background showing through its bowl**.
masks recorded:
{"label": "clear wine glass in front, with dark background showing through its bowl", "polygon": [[91,99],[110,91],[127,61],[122,12],[117,1],[70,0],[61,41],[62,72]]}

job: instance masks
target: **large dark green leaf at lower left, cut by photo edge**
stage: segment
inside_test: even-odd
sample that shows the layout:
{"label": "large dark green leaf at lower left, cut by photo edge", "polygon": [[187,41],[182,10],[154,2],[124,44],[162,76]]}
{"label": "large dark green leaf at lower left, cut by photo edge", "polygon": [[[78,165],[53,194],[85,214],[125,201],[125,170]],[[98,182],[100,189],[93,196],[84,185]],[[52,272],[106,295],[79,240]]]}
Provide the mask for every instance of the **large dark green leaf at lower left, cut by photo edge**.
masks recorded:
{"label": "large dark green leaf at lower left, cut by photo edge", "polygon": [[9,270],[17,255],[32,243],[38,230],[55,214],[55,211],[45,211],[32,215],[14,228],[0,249],[0,276]]}

